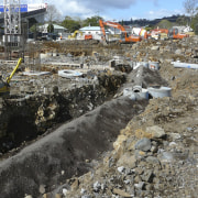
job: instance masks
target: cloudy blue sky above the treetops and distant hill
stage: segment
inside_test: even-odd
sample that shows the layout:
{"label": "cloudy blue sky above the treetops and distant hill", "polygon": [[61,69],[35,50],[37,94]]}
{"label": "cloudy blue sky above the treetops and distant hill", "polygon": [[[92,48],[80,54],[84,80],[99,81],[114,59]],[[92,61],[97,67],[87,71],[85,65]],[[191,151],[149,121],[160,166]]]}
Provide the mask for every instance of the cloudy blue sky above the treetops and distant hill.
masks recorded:
{"label": "cloudy blue sky above the treetops and distant hill", "polygon": [[100,15],[105,20],[157,19],[184,14],[184,0],[21,0],[21,3],[54,4],[63,16],[90,18]]}

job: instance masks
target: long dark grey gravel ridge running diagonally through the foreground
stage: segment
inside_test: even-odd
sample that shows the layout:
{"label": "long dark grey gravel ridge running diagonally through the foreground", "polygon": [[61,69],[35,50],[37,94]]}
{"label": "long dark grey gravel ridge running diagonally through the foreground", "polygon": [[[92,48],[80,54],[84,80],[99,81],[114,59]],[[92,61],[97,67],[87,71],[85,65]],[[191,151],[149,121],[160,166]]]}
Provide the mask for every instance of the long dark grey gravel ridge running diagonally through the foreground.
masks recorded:
{"label": "long dark grey gravel ridge running diagonally through the foreground", "polygon": [[143,112],[146,105],[146,100],[132,101],[124,97],[105,102],[2,161],[1,196],[40,197],[40,185],[52,191],[67,178],[90,170],[91,160],[111,150],[120,130],[133,116]]}

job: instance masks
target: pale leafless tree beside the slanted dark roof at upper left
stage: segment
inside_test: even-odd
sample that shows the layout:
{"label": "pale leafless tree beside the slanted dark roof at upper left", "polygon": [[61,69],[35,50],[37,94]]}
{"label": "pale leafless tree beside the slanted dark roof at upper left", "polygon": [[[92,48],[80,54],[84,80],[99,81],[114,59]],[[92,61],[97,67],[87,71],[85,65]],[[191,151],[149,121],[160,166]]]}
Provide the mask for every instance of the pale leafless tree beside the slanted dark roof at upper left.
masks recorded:
{"label": "pale leafless tree beside the slanted dark roof at upper left", "polygon": [[47,13],[45,16],[45,20],[47,22],[59,22],[61,18],[62,18],[62,14],[54,4],[47,6]]}

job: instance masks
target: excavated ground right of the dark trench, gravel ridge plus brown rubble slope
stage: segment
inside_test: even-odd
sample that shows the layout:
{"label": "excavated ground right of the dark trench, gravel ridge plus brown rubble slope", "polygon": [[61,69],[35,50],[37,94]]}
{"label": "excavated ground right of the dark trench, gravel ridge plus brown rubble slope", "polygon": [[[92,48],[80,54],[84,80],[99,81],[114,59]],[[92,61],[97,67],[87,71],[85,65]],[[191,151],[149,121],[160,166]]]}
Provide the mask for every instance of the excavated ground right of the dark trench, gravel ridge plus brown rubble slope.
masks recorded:
{"label": "excavated ground right of the dark trench, gravel ridge plus brown rubble slope", "polygon": [[[198,72],[174,68],[170,61],[197,63],[197,41],[151,41],[127,50],[125,57],[161,63],[160,73],[143,68],[142,85],[168,85],[172,97],[148,105],[118,97],[63,124],[0,163],[1,196],[196,197]],[[136,74],[120,91],[141,82],[131,79]]]}

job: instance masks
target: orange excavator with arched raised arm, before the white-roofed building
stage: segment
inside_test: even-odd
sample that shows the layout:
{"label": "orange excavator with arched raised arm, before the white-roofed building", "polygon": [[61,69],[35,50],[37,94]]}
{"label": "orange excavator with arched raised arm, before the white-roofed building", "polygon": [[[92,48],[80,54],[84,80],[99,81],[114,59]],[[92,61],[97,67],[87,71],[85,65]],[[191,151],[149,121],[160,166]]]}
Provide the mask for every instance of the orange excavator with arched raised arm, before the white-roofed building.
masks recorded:
{"label": "orange excavator with arched raised arm, before the white-roofed building", "polygon": [[105,30],[106,25],[107,26],[113,26],[113,28],[119,29],[121,31],[121,38],[120,38],[121,43],[135,43],[135,42],[142,41],[142,37],[140,35],[128,35],[125,29],[119,23],[111,22],[111,21],[105,22],[102,20],[99,20],[99,24],[100,24],[100,29],[101,29],[102,34],[103,34],[103,37],[102,37],[103,41],[107,41],[106,30]]}

